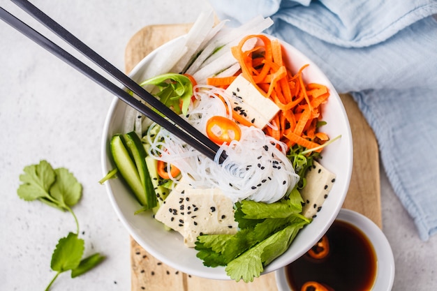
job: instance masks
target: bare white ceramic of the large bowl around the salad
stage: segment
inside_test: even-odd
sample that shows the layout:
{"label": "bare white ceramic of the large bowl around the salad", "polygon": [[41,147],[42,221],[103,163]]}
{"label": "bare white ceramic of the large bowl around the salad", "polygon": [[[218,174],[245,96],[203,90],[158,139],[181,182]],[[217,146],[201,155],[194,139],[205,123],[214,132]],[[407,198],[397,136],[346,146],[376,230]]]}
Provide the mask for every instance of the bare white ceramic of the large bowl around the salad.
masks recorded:
{"label": "bare white ceramic of the large bowl around the salad", "polygon": [[[311,224],[299,232],[288,251],[265,268],[266,273],[284,267],[299,258],[327,231],[339,213],[343,200],[346,197],[353,163],[350,126],[339,95],[316,64],[313,64],[311,60],[291,45],[287,43],[282,44],[290,63],[288,67],[293,72],[297,72],[304,64],[309,64],[309,67],[304,70],[305,82],[318,82],[329,87],[331,96],[323,108],[323,119],[327,121],[327,125],[325,125],[323,130],[330,137],[341,135],[341,138],[329,144],[329,147],[323,151],[323,161],[321,163],[336,174],[336,182],[332,187],[329,198],[323,205],[323,210],[318,213],[317,218]],[[177,39],[151,52],[134,68],[131,73],[133,80],[136,82],[142,81],[143,72],[157,51],[167,50],[175,45],[177,45]],[[114,167],[110,158],[110,152],[108,151],[109,142],[112,135],[121,132],[125,107],[124,103],[114,98],[105,121],[102,144],[103,174],[108,173]],[[161,223],[155,221],[151,214],[134,215],[135,210],[138,209],[138,202],[128,193],[124,184],[119,179],[110,179],[110,181],[105,183],[105,186],[110,202],[120,221],[133,239],[151,253],[151,255],[170,265],[170,267],[193,276],[223,280],[229,279],[223,267],[210,268],[203,266],[202,261],[195,256],[196,251],[193,248],[186,248],[184,246],[182,236],[177,232],[163,230]]]}

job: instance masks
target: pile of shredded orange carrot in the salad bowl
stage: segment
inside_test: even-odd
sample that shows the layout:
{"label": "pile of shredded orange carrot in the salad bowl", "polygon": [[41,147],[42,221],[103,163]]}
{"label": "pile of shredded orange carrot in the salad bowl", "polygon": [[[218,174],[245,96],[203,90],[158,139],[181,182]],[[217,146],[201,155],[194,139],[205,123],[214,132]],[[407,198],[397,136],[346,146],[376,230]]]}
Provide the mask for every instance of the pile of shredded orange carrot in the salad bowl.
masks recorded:
{"label": "pile of shredded orange carrot in the salad bowl", "polygon": [[[251,38],[257,38],[256,45],[251,50],[243,50]],[[241,66],[237,75],[241,73],[262,96],[272,100],[280,109],[270,121],[273,126],[263,128],[267,135],[281,140],[288,147],[299,144],[307,149],[329,140],[327,134],[318,132],[317,128],[322,112],[320,105],[329,97],[329,89],[323,84],[306,84],[303,75],[309,65],[293,74],[286,68],[287,61],[279,40],[265,35],[246,36],[231,48],[231,52]],[[235,77],[212,77],[207,82],[225,89]],[[232,114],[232,117],[241,124],[252,125],[239,114]]]}

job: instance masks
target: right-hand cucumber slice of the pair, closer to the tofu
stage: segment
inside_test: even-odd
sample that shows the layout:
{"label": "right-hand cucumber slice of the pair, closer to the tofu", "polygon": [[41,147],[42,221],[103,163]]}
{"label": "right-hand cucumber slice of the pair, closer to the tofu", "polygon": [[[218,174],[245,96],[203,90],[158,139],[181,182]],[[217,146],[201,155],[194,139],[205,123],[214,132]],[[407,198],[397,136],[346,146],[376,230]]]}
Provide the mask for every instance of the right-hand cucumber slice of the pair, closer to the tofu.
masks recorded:
{"label": "right-hand cucumber slice of the pair, closer to the tofu", "polygon": [[142,145],[140,137],[134,131],[126,133],[124,135],[126,146],[130,152],[135,165],[137,166],[138,174],[142,185],[145,188],[145,204],[142,204],[146,209],[151,209],[156,206],[156,193],[154,191],[154,185],[151,183],[149,170],[146,165],[146,151]]}

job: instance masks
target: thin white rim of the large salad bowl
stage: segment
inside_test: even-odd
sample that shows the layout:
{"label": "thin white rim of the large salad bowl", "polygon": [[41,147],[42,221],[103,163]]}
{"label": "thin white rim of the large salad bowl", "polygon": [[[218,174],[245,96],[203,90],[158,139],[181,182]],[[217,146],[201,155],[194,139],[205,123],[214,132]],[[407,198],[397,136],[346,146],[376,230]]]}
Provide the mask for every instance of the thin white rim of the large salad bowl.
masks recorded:
{"label": "thin white rim of the large salad bowl", "polygon": [[[265,33],[262,33],[262,34],[265,34]],[[150,59],[152,59],[157,54],[158,51],[170,47],[174,43],[177,43],[177,41],[180,40],[180,38],[184,38],[185,36],[186,35],[179,36],[173,40],[170,40],[167,43],[164,43],[163,45],[157,47],[154,51],[147,54],[147,56],[145,58],[143,58],[133,68],[133,70],[131,70],[131,73],[128,74],[129,77],[132,77],[135,80],[135,77],[138,77],[138,74],[140,73],[140,70],[142,69],[142,67],[145,66],[145,64],[147,64],[147,62]],[[274,36],[271,36],[271,35],[267,35],[267,36],[269,36],[269,38],[275,38]],[[337,201],[336,204],[339,204],[340,207],[336,207],[335,211],[332,211],[331,213],[329,213],[329,216],[326,219],[327,223],[325,223],[324,227],[322,229],[320,229],[320,234],[316,237],[313,237],[312,241],[309,241],[308,248],[310,248],[313,244],[316,243],[316,241],[318,241],[320,239],[320,237],[323,236],[323,234],[327,231],[327,229],[330,227],[330,225],[332,225],[335,218],[339,214],[339,211],[341,210],[341,205],[343,204],[343,201],[346,199],[346,194],[347,194],[348,187],[350,184],[350,177],[352,174],[352,167],[353,167],[352,133],[350,132],[350,124],[348,123],[348,117],[346,114],[346,110],[343,106],[341,99],[339,98],[339,94],[334,89],[332,83],[327,79],[327,77],[323,73],[323,71],[320,70],[320,68],[316,64],[314,64],[313,61],[311,61],[311,59],[306,57],[302,52],[297,50],[295,47],[293,47],[289,43],[286,43],[284,40],[279,40],[279,41],[281,42],[282,45],[287,47],[286,50],[292,51],[292,54],[299,56],[300,59],[303,59],[304,61],[306,61],[306,63],[311,64],[311,66],[310,66],[311,69],[316,70],[316,72],[318,72],[320,74],[320,77],[323,78],[323,84],[325,84],[327,87],[329,87],[329,90],[331,91],[331,94],[333,95],[330,98],[336,98],[337,102],[339,103],[340,112],[336,112],[336,114],[341,114],[341,117],[346,120],[346,124],[345,124],[346,133],[341,137],[341,139],[344,140],[344,142],[346,142],[348,145],[350,145],[347,147],[347,152],[342,153],[343,156],[345,157],[346,161],[348,161],[348,167],[345,167],[345,172],[344,172],[345,182],[343,183],[342,188],[338,189],[338,192],[341,194],[341,197],[339,197],[338,200],[336,200]],[[114,97],[114,99],[112,100],[112,103],[110,105],[110,109],[108,110],[108,114],[105,118],[105,124],[103,126],[103,135],[102,135],[102,140],[101,140],[101,166],[102,166],[103,175],[107,174],[108,170],[110,170],[110,168],[112,167],[112,165],[110,165],[110,161],[108,160],[108,156],[107,156],[107,154],[109,152],[108,151],[108,147],[109,147],[108,146],[108,143],[109,143],[108,142],[108,134],[110,133],[109,128],[110,128],[112,115],[114,114],[115,110],[117,109],[117,107],[121,103],[124,103],[124,102],[119,100],[117,97]],[[140,235],[137,233],[137,231],[135,231],[135,226],[131,225],[131,223],[129,223],[129,221],[124,216],[123,211],[121,211],[121,208],[119,207],[119,205],[117,204],[117,202],[114,198],[114,193],[112,192],[112,188],[110,186],[110,183],[108,183],[108,182],[105,183],[105,188],[106,188],[106,191],[108,193],[110,203],[112,204],[112,207],[113,207],[115,213],[117,214],[117,217],[119,218],[121,223],[124,225],[124,227],[126,227],[126,230],[128,230],[128,233],[131,235],[131,237],[133,237],[133,239],[135,239],[135,241],[138,242],[138,244],[140,244],[140,246],[145,248],[145,250],[147,250],[147,252],[149,252],[151,255],[153,255],[156,259],[161,260],[165,264],[168,264],[170,267],[173,267],[175,269],[179,269],[181,271],[184,271],[186,274],[191,274],[193,276],[200,276],[203,278],[211,278],[211,279],[218,279],[218,280],[230,280],[230,278],[227,276],[227,274],[225,274],[224,267],[216,267],[216,268],[205,267],[208,269],[216,269],[216,270],[220,270],[220,271],[202,271],[202,270],[199,270],[199,269],[197,269],[195,267],[191,267],[191,266],[181,266],[180,264],[177,264],[177,263],[173,262],[172,260],[169,260],[168,258],[166,258],[163,253],[159,253],[158,251],[154,250],[154,248],[150,248],[149,246],[147,246],[147,243],[144,241],[144,239],[142,239],[142,237],[140,237]],[[290,248],[288,248],[288,250],[289,249]],[[289,264],[293,260],[296,260],[301,255],[303,255],[306,251],[308,251],[308,249],[302,248],[298,252],[292,253],[292,255],[288,255],[287,257],[283,257],[283,255],[281,255],[279,258],[283,257],[283,260],[281,260],[281,262],[279,262],[279,260],[277,260],[277,259],[274,260],[269,265],[267,265],[267,267],[265,267],[262,274],[267,274],[269,272],[276,271],[277,269],[283,267],[284,264]],[[198,259],[198,260],[200,260],[200,259]]]}

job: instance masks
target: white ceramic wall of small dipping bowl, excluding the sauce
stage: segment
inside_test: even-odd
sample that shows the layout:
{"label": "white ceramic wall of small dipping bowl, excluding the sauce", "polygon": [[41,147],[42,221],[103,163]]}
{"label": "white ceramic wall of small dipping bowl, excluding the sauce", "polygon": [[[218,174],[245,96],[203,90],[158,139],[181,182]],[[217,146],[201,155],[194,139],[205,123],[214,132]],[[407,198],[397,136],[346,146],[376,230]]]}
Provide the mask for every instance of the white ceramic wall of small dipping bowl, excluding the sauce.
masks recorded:
{"label": "white ceramic wall of small dipping bowl, excluding the sauce", "polygon": [[[354,225],[361,230],[371,242],[377,260],[376,279],[373,283],[372,291],[392,290],[394,281],[394,258],[392,248],[382,230],[366,216],[348,209],[341,209],[336,219]],[[300,291],[290,288],[286,277],[286,268],[277,270],[275,276],[279,291]]]}

